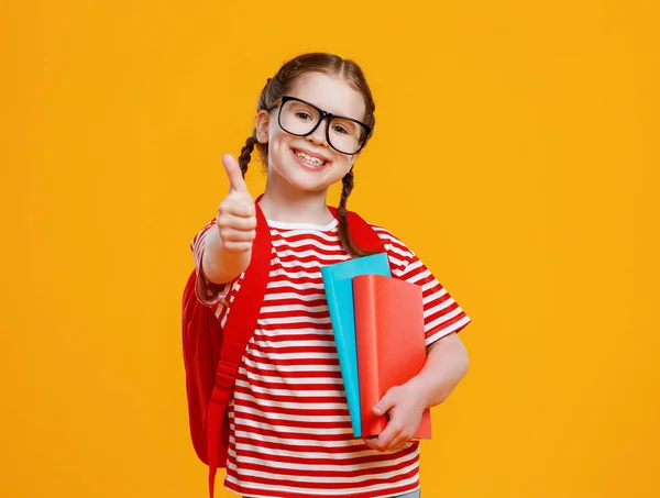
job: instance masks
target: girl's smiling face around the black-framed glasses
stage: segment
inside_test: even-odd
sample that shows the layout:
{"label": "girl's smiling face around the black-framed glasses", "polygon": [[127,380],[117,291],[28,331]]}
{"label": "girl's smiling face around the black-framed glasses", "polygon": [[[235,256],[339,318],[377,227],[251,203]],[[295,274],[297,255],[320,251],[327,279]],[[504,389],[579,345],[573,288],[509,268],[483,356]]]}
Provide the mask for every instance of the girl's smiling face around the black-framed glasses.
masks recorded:
{"label": "girl's smiling face around the black-framed glasses", "polygon": [[[336,115],[364,121],[362,95],[343,79],[321,73],[308,73],[296,80],[287,93],[302,99]],[[271,113],[261,111],[256,118],[257,139],[268,143],[268,177],[277,176],[302,191],[326,190],[349,173],[359,154],[346,155],[332,148],[327,141],[323,120],[314,133],[295,136],[285,132],[277,122],[279,107]],[[300,153],[323,163],[314,164],[299,157]]]}

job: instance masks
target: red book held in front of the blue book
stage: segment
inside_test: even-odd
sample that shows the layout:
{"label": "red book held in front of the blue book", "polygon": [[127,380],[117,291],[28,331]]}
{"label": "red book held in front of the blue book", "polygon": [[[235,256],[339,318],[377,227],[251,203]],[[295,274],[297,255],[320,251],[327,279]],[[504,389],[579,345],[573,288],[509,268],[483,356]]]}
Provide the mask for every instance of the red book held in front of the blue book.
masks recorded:
{"label": "red book held in front of the blue book", "polygon": [[[362,435],[378,435],[387,424],[372,408],[394,386],[415,377],[426,362],[421,287],[382,275],[353,277],[355,344]],[[416,439],[431,438],[426,409]]]}

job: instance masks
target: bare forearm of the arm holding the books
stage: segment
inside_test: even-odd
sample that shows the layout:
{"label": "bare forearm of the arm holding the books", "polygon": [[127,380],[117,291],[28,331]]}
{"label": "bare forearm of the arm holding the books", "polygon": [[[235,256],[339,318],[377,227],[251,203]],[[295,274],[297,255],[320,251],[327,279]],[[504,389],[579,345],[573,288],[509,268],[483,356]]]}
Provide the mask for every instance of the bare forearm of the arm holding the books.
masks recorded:
{"label": "bare forearm of the arm holding the books", "polygon": [[410,380],[416,392],[422,394],[425,407],[444,401],[468,372],[468,352],[455,333],[432,346],[421,372]]}

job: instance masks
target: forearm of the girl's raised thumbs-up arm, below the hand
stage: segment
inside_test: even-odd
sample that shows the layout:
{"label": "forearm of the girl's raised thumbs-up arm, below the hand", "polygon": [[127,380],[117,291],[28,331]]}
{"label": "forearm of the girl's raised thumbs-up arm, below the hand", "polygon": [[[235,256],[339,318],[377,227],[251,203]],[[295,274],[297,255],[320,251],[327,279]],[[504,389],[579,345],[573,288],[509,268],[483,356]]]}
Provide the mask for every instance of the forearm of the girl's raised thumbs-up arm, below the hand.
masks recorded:
{"label": "forearm of the girl's raised thumbs-up arm, below the hand", "polygon": [[220,231],[213,225],[205,235],[205,251],[201,258],[201,268],[213,284],[226,284],[241,275],[252,257],[252,251],[232,252],[222,246]]}

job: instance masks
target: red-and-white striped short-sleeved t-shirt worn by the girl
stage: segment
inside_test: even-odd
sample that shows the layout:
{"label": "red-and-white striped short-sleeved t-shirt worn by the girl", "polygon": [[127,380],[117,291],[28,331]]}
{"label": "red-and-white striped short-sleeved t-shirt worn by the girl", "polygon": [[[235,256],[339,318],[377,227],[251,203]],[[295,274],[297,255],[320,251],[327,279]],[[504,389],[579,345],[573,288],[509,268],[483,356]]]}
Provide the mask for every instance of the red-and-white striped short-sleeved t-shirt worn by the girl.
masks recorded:
{"label": "red-and-white striped short-sleeved t-shirt worn by the girl", "polygon": [[[191,242],[197,268],[213,224]],[[339,243],[337,220],[324,226],[268,225],[270,279],[229,405],[224,486],[263,498],[376,498],[417,489],[417,441],[380,453],[352,434],[320,272],[350,258]],[[385,242],[393,276],[422,287],[427,345],[464,328],[470,318],[415,253],[372,226]],[[244,274],[220,287],[198,275],[198,297],[224,324]]]}

